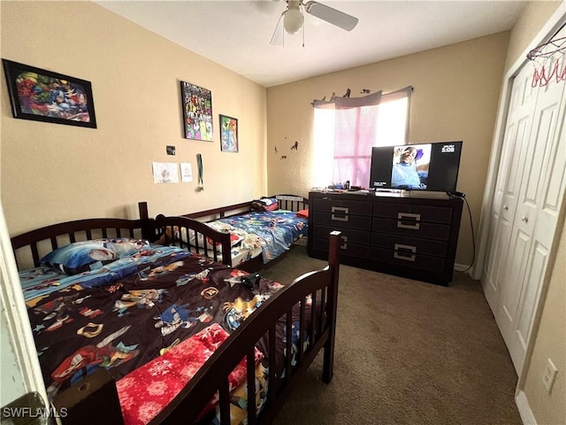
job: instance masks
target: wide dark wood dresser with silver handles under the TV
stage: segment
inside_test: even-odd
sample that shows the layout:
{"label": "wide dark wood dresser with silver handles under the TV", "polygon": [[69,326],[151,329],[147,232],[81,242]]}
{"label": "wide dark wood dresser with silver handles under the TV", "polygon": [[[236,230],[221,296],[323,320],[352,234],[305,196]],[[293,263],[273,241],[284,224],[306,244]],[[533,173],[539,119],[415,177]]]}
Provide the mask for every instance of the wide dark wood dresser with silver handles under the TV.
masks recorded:
{"label": "wide dark wood dresser with silver handles under the TV", "polygon": [[423,282],[452,282],[463,200],[361,192],[309,194],[310,257],[326,259],[328,234],[342,232],[340,262]]}

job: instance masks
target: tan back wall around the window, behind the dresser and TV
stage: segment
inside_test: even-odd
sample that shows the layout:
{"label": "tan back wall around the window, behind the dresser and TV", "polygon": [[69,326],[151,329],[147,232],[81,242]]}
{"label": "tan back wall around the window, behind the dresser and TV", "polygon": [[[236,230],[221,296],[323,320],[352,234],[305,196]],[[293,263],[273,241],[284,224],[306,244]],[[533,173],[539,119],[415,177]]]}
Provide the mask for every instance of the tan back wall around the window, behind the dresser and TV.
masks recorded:
{"label": "tan back wall around the window, behind the dresser and TV", "polygon": [[[354,97],[362,89],[413,86],[409,139],[463,140],[457,189],[466,193],[477,227],[508,41],[507,32],[490,35],[267,89],[268,192],[290,189],[306,196],[312,187],[313,99],[342,96],[348,88]],[[299,149],[291,151],[295,141]],[[456,262],[470,264],[472,257],[464,206]]]}

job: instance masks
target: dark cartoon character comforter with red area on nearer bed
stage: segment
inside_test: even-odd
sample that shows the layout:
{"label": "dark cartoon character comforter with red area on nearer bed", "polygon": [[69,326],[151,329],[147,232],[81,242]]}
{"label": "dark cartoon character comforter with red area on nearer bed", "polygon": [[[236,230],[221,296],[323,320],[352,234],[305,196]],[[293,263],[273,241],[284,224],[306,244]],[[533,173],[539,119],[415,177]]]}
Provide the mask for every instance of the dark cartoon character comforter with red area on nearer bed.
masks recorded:
{"label": "dark cartoon character comforter with red area on nearer bed", "polygon": [[[123,410],[136,387],[154,391],[149,394],[153,401],[158,399],[159,391],[180,390],[228,334],[281,288],[278,282],[262,279],[256,290],[249,290],[240,283],[246,274],[200,256],[177,255],[171,256],[169,262],[144,264],[134,274],[119,275],[117,280],[101,286],[83,287],[75,282],[27,299],[50,397],[97,367],[106,367],[118,382]],[[284,338],[282,326],[278,337],[281,352]],[[177,347],[181,349],[175,351]],[[191,370],[181,373],[181,380],[179,374],[162,373],[165,364],[172,364],[164,361],[166,356],[178,358],[177,364],[187,364],[186,356],[179,358],[181,352],[192,353]],[[265,352],[256,352],[259,380],[264,379],[268,367]],[[155,379],[156,373],[164,379]],[[230,383],[236,389],[245,376],[238,375],[237,370],[233,374]],[[142,384],[144,379],[153,386]],[[141,412],[125,411],[126,423],[147,423],[155,417],[174,397],[162,395],[160,406]],[[134,408],[140,406],[139,402],[138,398],[130,405]]]}

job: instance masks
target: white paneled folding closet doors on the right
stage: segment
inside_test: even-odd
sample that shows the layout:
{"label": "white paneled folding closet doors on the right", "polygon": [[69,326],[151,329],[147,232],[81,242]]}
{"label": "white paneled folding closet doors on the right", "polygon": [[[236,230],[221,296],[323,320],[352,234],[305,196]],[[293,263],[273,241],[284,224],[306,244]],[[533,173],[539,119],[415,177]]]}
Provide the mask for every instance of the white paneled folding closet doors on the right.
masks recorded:
{"label": "white paneled folding closet doors on the right", "polygon": [[514,81],[524,105],[509,109],[509,141],[493,202],[496,231],[484,281],[517,374],[531,337],[566,182],[566,83],[551,81],[532,89],[531,78],[532,65],[526,64]]}

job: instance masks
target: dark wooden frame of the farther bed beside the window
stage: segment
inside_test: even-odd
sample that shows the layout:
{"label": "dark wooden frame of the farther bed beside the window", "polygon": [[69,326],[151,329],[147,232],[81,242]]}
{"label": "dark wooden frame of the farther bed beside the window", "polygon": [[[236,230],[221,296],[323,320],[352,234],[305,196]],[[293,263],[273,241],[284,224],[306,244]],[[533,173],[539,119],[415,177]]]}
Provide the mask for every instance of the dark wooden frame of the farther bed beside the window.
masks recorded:
{"label": "dark wooden frame of the farther bed beside the window", "polygon": [[[300,197],[297,195],[273,195],[269,198],[277,198],[279,203],[279,209],[281,210],[288,210],[293,212],[299,212],[309,205],[309,199],[306,197]],[[196,224],[197,222],[207,223],[210,221],[224,219],[227,217],[232,217],[234,215],[240,215],[244,213],[249,213],[251,211],[255,211],[252,209],[252,203],[254,201],[249,202],[242,202],[241,204],[234,204],[234,205],[226,205],[221,206],[218,208],[212,208],[210,210],[199,211],[197,213],[187,213],[182,214],[180,217],[184,217],[188,220],[180,220],[175,222],[175,220],[164,220],[164,215],[158,215],[156,220],[159,220],[162,227],[154,228],[154,232],[152,232],[148,239],[152,242],[157,241],[157,239],[161,236],[164,236],[164,243],[166,244],[175,244],[181,246],[183,248],[187,248],[189,251],[196,251],[197,253],[207,252],[206,250],[208,247],[205,246],[198,246],[198,244],[191,244],[191,243],[183,243],[180,239],[180,235],[188,235],[188,228],[194,229],[197,233],[203,234],[204,228]],[[142,220],[149,219],[148,215],[148,207],[147,205],[142,205],[140,203],[140,218]],[[184,227],[184,229],[174,229],[175,226]],[[151,232],[151,231],[150,231]],[[224,264],[229,266],[233,266],[232,258],[230,257],[230,240],[229,237],[220,236],[222,235],[218,232],[218,235],[215,236],[215,240],[220,241],[223,246],[228,247],[226,250],[225,248],[222,249],[223,258],[221,259]],[[226,238],[226,240],[225,240]],[[194,238],[194,240],[197,240]],[[218,250],[219,251],[219,250]],[[211,255],[209,255],[211,256]],[[215,260],[217,258],[215,257]],[[220,261],[220,259],[218,259]],[[244,270],[246,272],[256,272],[264,267],[264,261],[261,255],[256,256],[253,259],[249,259],[237,266],[239,269]]]}

